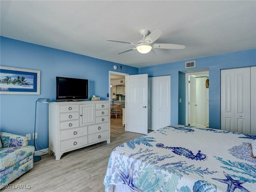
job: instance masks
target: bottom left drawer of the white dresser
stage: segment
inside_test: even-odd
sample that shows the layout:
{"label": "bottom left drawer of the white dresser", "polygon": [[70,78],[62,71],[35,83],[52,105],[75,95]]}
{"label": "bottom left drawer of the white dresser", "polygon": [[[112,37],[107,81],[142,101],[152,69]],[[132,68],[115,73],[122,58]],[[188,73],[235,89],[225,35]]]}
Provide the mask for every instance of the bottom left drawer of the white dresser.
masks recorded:
{"label": "bottom left drawer of the white dresser", "polygon": [[60,151],[71,150],[80,146],[88,144],[87,136],[78,137],[60,142]]}

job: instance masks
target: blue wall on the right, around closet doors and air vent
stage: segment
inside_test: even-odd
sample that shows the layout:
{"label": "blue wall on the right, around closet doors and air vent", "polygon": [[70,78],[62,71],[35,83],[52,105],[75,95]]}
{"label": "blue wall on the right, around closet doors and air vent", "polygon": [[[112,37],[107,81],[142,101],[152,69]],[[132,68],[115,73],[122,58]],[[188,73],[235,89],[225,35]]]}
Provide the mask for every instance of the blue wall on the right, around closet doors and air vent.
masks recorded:
{"label": "blue wall on the right, around closet doors and air vent", "polygon": [[[196,58],[189,61],[193,60],[196,61],[196,67],[193,69],[209,68],[209,127],[220,129],[220,70],[255,66],[256,49]],[[178,86],[182,84],[182,82],[179,82],[182,80],[181,77],[179,79],[179,71],[186,70],[186,61],[188,60],[139,68],[139,74],[148,74],[148,76],[171,76],[171,124],[178,124],[179,120],[184,120],[184,117],[178,117],[178,114],[181,114],[179,112],[179,98],[186,98],[186,96],[184,95],[185,91],[179,92]],[[183,78],[185,78],[185,76],[183,76]],[[182,102],[184,101],[185,100],[182,99]],[[180,110],[185,111],[184,106],[181,107]],[[185,114],[183,115],[185,116]]]}

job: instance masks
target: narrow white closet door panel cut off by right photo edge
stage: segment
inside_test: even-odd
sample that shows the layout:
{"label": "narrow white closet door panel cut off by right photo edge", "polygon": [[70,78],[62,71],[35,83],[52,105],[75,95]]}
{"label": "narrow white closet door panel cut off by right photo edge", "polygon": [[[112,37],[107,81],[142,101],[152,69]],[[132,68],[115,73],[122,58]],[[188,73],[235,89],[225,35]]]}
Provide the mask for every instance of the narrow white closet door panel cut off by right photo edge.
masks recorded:
{"label": "narrow white closet door panel cut off by right photo edge", "polygon": [[256,135],[256,66],[251,67],[251,134]]}

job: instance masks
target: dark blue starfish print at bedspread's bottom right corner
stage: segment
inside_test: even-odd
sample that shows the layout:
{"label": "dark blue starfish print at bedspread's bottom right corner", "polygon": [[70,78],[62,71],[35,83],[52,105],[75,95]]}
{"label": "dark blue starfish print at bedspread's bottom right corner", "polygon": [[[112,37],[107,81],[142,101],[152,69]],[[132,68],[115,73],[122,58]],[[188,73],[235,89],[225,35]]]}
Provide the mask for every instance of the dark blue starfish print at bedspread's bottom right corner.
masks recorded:
{"label": "dark blue starfish print at bedspread's bottom right corner", "polygon": [[218,179],[218,178],[212,178],[212,179],[214,179],[216,181],[219,181],[219,182],[222,182],[222,183],[228,184],[226,192],[234,192],[236,190],[236,188],[238,188],[238,189],[240,189],[240,190],[242,190],[244,192],[250,192],[246,188],[241,186],[241,184],[243,184],[243,183],[245,183],[247,181],[234,180],[226,172],[223,172],[223,173],[224,173],[224,175],[226,176],[227,179]]}

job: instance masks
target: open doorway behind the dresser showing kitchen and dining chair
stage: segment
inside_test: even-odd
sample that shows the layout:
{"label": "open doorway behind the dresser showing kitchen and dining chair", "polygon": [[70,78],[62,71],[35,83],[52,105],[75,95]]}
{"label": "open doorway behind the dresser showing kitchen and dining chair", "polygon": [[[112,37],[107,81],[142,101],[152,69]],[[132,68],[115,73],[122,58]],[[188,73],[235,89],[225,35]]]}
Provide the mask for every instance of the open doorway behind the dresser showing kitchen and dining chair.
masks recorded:
{"label": "open doorway behind the dresser showing kitchen and dining chair", "polygon": [[109,100],[110,108],[120,104],[120,114],[112,116],[110,111],[110,123],[114,122],[116,126],[123,126],[125,124],[125,76],[129,75],[120,72],[109,72]]}

